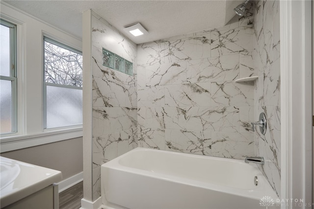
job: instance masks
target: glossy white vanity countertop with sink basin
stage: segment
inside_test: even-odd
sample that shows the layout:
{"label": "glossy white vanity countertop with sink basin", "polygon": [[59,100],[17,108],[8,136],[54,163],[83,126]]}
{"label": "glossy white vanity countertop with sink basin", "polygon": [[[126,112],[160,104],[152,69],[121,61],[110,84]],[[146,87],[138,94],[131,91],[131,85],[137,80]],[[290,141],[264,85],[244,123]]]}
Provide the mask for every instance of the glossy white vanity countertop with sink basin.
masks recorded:
{"label": "glossy white vanity countertop with sink basin", "polygon": [[61,180],[60,171],[0,157],[1,208]]}

